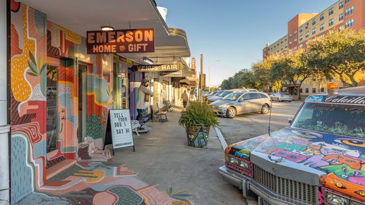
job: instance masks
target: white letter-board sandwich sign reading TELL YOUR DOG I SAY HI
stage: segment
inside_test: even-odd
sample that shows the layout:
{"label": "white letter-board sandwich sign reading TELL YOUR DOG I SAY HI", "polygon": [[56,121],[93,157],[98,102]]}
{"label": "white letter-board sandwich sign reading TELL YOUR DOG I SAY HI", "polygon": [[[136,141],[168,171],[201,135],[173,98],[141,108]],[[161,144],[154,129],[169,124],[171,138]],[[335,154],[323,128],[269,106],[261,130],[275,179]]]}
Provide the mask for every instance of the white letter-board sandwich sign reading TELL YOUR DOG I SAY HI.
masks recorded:
{"label": "white letter-board sandwich sign reading TELL YOUR DOG I SAY HI", "polygon": [[109,110],[104,147],[110,144],[113,146],[113,155],[114,149],[123,147],[133,147],[135,151],[129,109]]}

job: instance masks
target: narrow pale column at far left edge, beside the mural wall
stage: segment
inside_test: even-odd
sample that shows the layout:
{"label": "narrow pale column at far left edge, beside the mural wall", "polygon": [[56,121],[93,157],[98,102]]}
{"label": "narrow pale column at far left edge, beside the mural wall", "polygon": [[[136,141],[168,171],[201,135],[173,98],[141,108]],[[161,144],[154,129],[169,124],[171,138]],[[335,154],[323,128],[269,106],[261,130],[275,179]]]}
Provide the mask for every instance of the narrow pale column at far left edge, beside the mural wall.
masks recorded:
{"label": "narrow pale column at far left edge, beside the mural wall", "polygon": [[7,101],[8,29],[7,1],[0,2],[0,204],[10,204],[9,131]]}

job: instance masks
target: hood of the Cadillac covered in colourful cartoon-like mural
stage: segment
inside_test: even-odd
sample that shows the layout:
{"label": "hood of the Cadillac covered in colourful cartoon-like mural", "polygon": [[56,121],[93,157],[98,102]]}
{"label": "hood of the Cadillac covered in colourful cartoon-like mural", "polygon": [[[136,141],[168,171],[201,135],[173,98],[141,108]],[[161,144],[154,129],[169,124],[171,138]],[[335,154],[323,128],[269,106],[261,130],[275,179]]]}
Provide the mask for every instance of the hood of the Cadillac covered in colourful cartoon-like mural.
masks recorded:
{"label": "hood of the Cadillac covered in colourful cartoon-like mural", "polygon": [[225,152],[254,164],[291,163],[303,174],[316,172],[318,186],[365,200],[365,139],[286,127],[230,145]]}

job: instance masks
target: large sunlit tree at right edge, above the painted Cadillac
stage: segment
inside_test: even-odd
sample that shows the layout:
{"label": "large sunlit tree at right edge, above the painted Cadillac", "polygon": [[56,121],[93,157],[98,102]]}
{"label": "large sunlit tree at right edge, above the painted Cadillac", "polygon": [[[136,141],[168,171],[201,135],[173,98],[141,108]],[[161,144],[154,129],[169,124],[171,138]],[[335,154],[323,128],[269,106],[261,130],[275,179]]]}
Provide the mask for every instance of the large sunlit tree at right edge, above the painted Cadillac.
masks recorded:
{"label": "large sunlit tree at right edge, above the painted Cadillac", "polygon": [[309,67],[336,75],[347,87],[357,86],[357,74],[365,72],[365,31],[333,31],[309,42],[304,59]]}

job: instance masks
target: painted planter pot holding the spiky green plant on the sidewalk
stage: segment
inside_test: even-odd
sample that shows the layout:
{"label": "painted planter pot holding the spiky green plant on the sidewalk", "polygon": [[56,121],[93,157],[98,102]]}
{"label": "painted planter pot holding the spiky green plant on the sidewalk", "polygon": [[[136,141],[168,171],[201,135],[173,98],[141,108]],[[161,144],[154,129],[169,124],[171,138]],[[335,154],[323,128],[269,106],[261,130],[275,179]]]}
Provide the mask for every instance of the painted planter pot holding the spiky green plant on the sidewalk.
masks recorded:
{"label": "painted planter pot holding the spiky green plant on the sidewalk", "polygon": [[187,145],[192,147],[205,147],[208,144],[210,126],[186,126]]}

